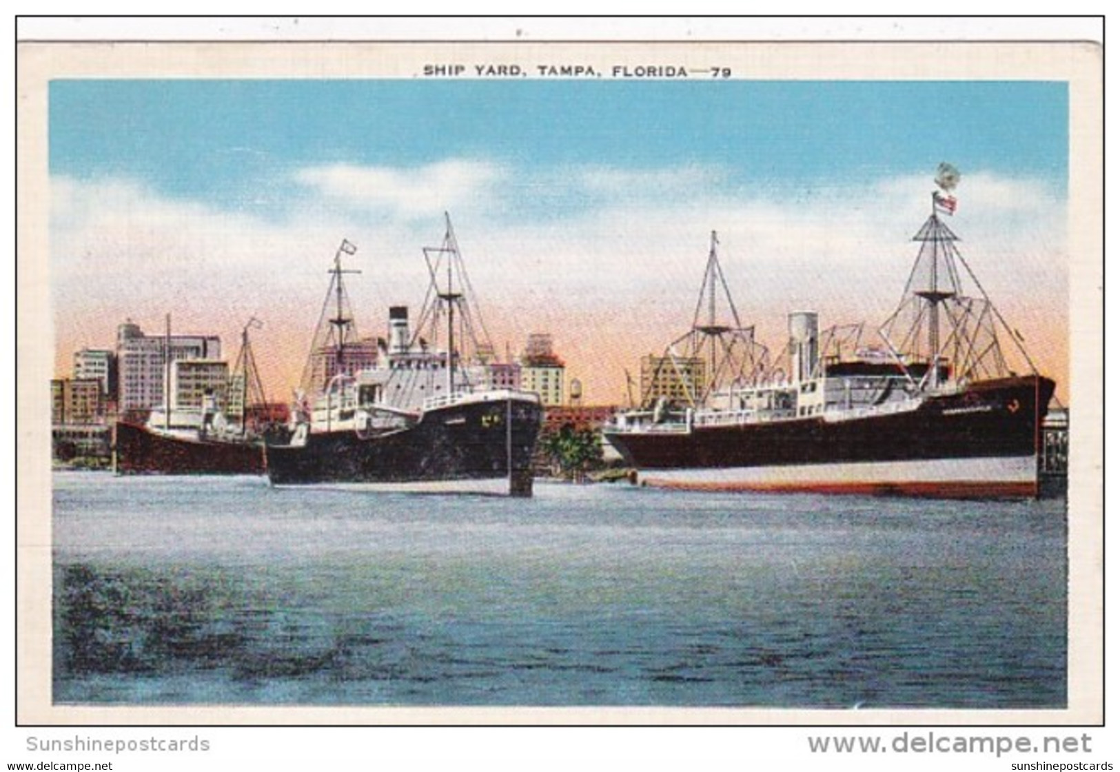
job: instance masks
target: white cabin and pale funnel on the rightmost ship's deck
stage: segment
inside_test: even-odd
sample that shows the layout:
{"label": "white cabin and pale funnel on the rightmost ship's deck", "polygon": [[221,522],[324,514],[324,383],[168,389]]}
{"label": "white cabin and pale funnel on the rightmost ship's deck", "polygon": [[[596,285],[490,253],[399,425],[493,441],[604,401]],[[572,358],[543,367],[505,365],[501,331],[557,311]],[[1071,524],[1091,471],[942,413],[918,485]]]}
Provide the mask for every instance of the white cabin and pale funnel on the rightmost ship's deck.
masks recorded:
{"label": "white cabin and pale funnel on the rightmost ship's deck", "polygon": [[[821,356],[816,314],[790,315],[790,373],[774,371],[745,385],[710,393],[702,404],[659,400],[651,408],[615,416],[615,431],[688,432],[693,427],[735,426],[790,420],[847,420],[915,409],[922,397],[912,387],[925,362],[898,362],[885,351],[862,348],[853,356]],[[942,368],[942,382],[948,372]]]}

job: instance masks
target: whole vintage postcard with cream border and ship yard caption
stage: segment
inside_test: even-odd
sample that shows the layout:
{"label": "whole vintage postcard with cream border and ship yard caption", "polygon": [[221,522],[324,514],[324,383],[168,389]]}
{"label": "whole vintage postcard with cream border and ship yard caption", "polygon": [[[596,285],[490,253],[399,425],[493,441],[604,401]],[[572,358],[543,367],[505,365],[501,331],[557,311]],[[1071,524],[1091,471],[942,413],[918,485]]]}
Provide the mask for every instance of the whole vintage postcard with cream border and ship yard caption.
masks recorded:
{"label": "whole vintage postcard with cream border and ship yard caption", "polygon": [[18,724],[1100,724],[1101,61],[20,44]]}

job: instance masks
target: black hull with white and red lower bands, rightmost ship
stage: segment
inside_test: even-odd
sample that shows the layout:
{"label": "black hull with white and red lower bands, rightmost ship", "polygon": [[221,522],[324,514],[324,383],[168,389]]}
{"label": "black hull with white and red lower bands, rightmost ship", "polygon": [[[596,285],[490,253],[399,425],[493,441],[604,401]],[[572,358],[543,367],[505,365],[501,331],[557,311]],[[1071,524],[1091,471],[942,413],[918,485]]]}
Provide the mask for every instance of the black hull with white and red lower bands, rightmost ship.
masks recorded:
{"label": "black hull with white and red lower bands, rightmost ship", "polygon": [[1005,378],[895,412],[607,437],[651,485],[1035,496],[1039,431],[1053,393],[1047,378]]}

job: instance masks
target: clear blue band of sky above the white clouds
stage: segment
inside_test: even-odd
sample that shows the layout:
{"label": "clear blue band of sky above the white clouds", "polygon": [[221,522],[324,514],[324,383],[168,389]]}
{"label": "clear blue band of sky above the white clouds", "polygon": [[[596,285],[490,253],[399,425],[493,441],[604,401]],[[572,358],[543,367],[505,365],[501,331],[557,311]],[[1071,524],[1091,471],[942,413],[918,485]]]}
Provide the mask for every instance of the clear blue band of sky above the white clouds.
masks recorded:
{"label": "clear blue band of sky above the white clouds", "polygon": [[1064,83],[59,81],[50,171],[236,203],[304,165],[719,166],[734,185],[925,170],[1064,186]]}

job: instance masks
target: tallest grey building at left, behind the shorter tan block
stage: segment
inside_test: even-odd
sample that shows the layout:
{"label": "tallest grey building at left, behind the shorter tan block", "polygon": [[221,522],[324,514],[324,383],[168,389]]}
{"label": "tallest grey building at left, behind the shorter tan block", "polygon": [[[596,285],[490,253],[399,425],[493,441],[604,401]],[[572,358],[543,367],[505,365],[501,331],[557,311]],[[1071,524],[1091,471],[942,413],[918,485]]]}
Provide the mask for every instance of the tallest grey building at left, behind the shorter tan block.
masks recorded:
{"label": "tallest grey building at left, behind the shorter tan block", "polygon": [[[222,342],[215,335],[144,335],[131,319],[116,329],[118,408],[120,411],[150,410],[162,404],[165,352],[170,361],[220,360]],[[167,384],[170,385],[170,384]]]}

